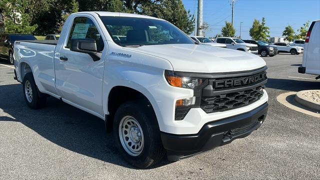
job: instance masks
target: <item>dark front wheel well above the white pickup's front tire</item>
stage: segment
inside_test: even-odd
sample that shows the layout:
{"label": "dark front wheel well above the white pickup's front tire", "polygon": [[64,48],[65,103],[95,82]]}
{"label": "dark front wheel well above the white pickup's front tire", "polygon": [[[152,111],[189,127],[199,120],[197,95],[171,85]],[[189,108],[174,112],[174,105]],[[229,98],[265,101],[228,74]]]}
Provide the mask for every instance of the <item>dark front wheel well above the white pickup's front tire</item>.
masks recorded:
{"label": "dark front wheel well above the white pickup's front tire", "polygon": [[146,105],[150,105],[152,107],[147,97],[133,88],[125,86],[114,86],[110,90],[107,106],[109,114],[105,115],[105,127],[107,132],[110,132],[112,130],[113,117],[117,108],[124,102],[131,100],[143,100]]}

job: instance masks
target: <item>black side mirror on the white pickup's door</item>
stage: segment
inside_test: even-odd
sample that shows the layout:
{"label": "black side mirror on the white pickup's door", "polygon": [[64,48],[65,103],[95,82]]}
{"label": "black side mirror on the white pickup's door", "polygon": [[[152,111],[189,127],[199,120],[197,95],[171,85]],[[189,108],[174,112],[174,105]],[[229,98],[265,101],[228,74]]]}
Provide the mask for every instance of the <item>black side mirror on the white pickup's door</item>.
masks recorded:
{"label": "black side mirror on the white pickup's door", "polygon": [[101,56],[97,53],[96,43],[91,38],[74,38],[71,39],[71,51],[89,54],[93,61],[100,60]]}

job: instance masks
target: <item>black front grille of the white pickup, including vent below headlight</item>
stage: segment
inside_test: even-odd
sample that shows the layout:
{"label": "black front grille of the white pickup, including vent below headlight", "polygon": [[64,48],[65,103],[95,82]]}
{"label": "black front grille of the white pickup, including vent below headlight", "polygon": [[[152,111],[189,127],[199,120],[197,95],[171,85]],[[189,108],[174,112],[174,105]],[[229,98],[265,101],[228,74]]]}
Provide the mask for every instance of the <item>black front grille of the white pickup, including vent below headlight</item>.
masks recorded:
{"label": "black front grille of the white pickup, including vent below headlight", "polygon": [[176,107],[175,120],[183,120],[193,107],[200,107],[206,113],[231,110],[249,105],[263,96],[267,81],[266,66],[240,72],[197,74],[204,84],[194,89],[196,104],[190,107]]}

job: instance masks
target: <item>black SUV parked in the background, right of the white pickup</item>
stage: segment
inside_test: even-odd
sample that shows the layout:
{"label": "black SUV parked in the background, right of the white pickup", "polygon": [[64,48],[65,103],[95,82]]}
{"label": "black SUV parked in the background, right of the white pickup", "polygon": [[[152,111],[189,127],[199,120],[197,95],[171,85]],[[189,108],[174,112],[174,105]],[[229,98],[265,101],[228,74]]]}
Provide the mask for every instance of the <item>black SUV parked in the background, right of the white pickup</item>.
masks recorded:
{"label": "black SUV parked in the background, right of the white pickup", "polygon": [[272,57],[273,55],[278,54],[278,49],[275,45],[270,45],[266,41],[263,40],[243,40],[246,43],[252,43],[258,45],[258,54],[262,57],[269,55]]}

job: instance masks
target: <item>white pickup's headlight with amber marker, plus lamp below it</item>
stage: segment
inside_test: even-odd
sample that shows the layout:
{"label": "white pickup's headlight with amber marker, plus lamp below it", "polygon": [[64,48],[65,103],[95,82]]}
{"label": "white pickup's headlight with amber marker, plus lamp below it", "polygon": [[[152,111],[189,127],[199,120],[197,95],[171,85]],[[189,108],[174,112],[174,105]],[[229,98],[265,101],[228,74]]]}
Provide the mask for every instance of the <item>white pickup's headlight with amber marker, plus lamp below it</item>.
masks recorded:
{"label": "white pickup's headlight with amber marker, plus lamp below it", "polygon": [[[166,81],[174,87],[199,90],[207,83],[207,81],[205,81],[202,78],[179,76],[174,74],[174,72],[170,70],[165,70],[164,76]],[[200,95],[200,94],[197,94],[197,95]],[[195,106],[198,106],[197,104],[199,104],[199,102],[200,102],[200,96],[193,96],[193,97],[176,100],[175,106],[176,107],[183,107],[183,106],[195,107]]]}

